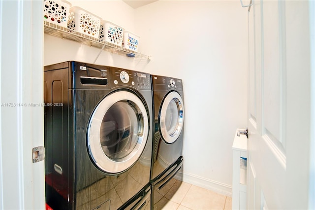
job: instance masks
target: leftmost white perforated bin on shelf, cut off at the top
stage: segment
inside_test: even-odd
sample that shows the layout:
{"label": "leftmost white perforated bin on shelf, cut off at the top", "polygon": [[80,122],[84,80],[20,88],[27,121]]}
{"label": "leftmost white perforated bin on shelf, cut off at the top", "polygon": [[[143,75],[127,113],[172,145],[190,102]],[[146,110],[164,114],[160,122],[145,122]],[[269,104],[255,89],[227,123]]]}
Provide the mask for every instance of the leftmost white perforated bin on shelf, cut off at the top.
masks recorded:
{"label": "leftmost white perforated bin on shelf, cut off at the top", "polygon": [[44,0],[44,20],[67,27],[70,7],[66,0]]}

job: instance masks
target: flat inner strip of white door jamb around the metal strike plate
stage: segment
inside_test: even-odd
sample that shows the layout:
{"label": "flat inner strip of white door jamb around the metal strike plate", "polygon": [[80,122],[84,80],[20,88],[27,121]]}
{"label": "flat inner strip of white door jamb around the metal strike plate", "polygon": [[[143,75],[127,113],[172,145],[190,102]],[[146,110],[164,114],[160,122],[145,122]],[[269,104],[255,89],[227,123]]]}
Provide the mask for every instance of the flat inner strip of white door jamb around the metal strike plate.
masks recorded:
{"label": "flat inner strip of white door jamb around the metal strike plate", "polygon": [[[43,27],[43,0],[32,0],[28,1],[32,3],[32,12],[31,13],[31,23],[32,31],[29,42],[30,48],[28,49],[30,54],[31,64],[28,66],[28,73],[30,74],[29,79],[25,78],[24,83],[29,87],[28,99],[30,103],[41,104],[44,102],[44,27]],[[24,17],[25,18],[25,17]],[[30,20],[26,20],[26,28],[30,27]],[[27,80],[27,81],[26,81]],[[24,97],[24,96],[23,96]],[[25,100],[25,99],[24,99]],[[25,156],[30,155],[33,147],[44,145],[44,109],[43,107],[28,107],[32,110],[29,113],[31,120],[24,119],[23,124],[31,124],[29,129],[30,139],[32,144],[27,148],[24,146],[24,149],[27,150]],[[25,111],[27,112],[27,111]],[[25,132],[25,131],[24,131]],[[25,135],[25,134],[24,134]],[[30,150],[31,149],[31,150]],[[25,157],[26,158],[26,157]],[[32,163],[29,160],[29,168],[25,168],[25,171],[28,169],[31,171],[28,173],[28,177],[24,178],[26,180],[25,194],[29,196],[25,197],[25,207],[26,209],[44,209],[45,208],[45,161],[40,161],[38,163]]]}

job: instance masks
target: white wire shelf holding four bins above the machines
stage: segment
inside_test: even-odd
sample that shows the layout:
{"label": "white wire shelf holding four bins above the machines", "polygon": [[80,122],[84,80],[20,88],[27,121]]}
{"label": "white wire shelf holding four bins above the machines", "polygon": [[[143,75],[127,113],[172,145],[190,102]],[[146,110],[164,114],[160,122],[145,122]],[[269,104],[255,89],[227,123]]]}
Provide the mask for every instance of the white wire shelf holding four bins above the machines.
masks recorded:
{"label": "white wire shelf holding four bins above the machines", "polygon": [[124,47],[112,44],[107,41],[99,41],[98,38],[94,38],[92,36],[85,35],[80,32],[70,30],[68,28],[65,28],[65,27],[62,27],[62,26],[59,26],[57,24],[53,24],[47,21],[44,21],[44,33],[48,35],[53,35],[59,38],[63,38],[63,39],[74,40],[74,41],[80,42],[81,44],[97,47],[99,49],[102,49],[111,53],[116,53],[116,54],[124,55],[127,57],[140,57],[140,58],[151,60],[151,56],[126,49]]}

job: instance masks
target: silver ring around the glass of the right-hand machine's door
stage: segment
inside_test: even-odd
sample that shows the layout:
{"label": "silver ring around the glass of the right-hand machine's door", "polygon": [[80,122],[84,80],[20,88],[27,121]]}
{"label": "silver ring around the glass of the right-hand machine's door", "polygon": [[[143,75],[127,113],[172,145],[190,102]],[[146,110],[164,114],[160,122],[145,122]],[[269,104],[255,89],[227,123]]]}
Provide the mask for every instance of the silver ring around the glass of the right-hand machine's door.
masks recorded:
{"label": "silver ring around the glass of the right-hand machine's door", "polygon": [[[167,107],[170,104],[170,102],[174,100],[178,106],[178,121],[177,121],[177,127],[175,131],[172,134],[169,134],[166,128],[166,111]],[[179,95],[179,93],[172,91],[169,93],[165,99],[162,102],[160,113],[159,113],[159,126],[160,126],[160,132],[162,139],[165,140],[167,143],[173,143],[176,141],[181,134],[181,131],[183,129],[184,124],[184,103],[182,97]]]}

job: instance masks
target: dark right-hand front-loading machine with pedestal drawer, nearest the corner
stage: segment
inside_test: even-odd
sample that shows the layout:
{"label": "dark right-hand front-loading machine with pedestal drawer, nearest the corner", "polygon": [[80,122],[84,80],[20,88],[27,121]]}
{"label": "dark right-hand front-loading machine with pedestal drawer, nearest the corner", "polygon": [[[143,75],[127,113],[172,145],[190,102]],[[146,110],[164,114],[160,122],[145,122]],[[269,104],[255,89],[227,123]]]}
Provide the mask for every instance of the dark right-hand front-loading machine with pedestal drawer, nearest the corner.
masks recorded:
{"label": "dark right-hand front-loading machine with pedestal drawer, nearest the corner", "polygon": [[[182,79],[151,75],[153,93],[152,209],[181,184],[184,137],[184,92]],[[173,189],[170,191],[169,189]],[[168,195],[171,197],[172,195]]]}

